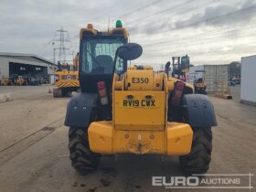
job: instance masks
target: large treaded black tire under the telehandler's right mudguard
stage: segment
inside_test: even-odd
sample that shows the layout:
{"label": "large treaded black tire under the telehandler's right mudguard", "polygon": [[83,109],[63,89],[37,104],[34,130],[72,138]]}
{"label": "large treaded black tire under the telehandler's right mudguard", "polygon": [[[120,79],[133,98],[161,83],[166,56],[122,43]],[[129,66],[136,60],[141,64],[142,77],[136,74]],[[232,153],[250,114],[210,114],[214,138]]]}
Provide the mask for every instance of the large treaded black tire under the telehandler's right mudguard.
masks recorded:
{"label": "large treaded black tire under the telehandler's right mudguard", "polygon": [[179,156],[182,170],[187,174],[205,174],[211,161],[212,133],[210,127],[193,129],[193,142],[188,155]]}

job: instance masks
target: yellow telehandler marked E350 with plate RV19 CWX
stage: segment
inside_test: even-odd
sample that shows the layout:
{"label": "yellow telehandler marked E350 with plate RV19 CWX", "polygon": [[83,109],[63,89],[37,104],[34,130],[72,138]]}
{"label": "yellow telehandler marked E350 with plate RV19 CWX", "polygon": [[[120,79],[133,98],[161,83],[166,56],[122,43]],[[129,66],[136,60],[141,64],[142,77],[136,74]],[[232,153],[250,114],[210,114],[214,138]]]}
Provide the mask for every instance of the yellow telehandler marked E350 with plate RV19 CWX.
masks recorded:
{"label": "yellow telehandler marked E350 with plate RV19 CWX", "polygon": [[81,92],[69,101],[65,119],[72,166],[83,175],[97,168],[101,155],[179,155],[185,172],[206,173],[217,125],[212,103],[166,73],[128,68],[143,49],[127,43],[117,24],[108,32],[91,25],[80,30]]}

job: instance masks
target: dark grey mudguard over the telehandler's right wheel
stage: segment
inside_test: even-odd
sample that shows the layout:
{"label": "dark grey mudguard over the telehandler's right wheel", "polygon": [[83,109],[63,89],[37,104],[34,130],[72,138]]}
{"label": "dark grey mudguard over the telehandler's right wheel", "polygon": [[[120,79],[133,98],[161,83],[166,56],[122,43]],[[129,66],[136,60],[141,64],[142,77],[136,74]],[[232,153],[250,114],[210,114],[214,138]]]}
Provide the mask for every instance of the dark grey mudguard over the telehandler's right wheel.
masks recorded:
{"label": "dark grey mudguard over the telehandler's right wheel", "polygon": [[192,127],[217,126],[214,107],[208,96],[186,94],[183,98],[186,123]]}

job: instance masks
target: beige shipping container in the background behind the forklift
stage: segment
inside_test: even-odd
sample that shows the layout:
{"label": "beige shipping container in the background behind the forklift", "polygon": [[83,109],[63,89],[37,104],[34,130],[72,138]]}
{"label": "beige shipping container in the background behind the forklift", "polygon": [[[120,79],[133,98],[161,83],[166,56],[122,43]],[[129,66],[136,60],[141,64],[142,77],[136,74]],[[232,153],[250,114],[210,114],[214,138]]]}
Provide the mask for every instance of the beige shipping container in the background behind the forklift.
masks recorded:
{"label": "beige shipping container in the background behind the forklift", "polygon": [[187,73],[188,83],[193,84],[197,70],[199,72],[197,78],[203,78],[207,85],[208,93],[229,92],[229,66],[228,65],[201,65],[189,69]]}

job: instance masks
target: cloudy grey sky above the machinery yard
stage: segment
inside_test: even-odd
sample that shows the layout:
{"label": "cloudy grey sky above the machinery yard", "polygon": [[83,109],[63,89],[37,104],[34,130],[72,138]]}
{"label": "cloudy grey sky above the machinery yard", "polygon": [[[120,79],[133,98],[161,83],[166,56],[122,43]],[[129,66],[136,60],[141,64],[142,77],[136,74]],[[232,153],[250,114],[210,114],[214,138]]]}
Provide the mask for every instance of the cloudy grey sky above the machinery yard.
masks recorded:
{"label": "cloudy grey sky above the machinery yard", "polygon": [[[144,48],[136,64],[161,68],[173,56],[191,63],[229,64],[256,54],[256,0],[0,0],[0,52],[53,60],[65,33],[66,58],[79,51],[81,27],[114,27],[121,19],[130,41]],[[110,23],[109,23],[110,21]],[[55,41],[55,45],[52,42]],[[59,52],[56,50],[56,58]]]}

